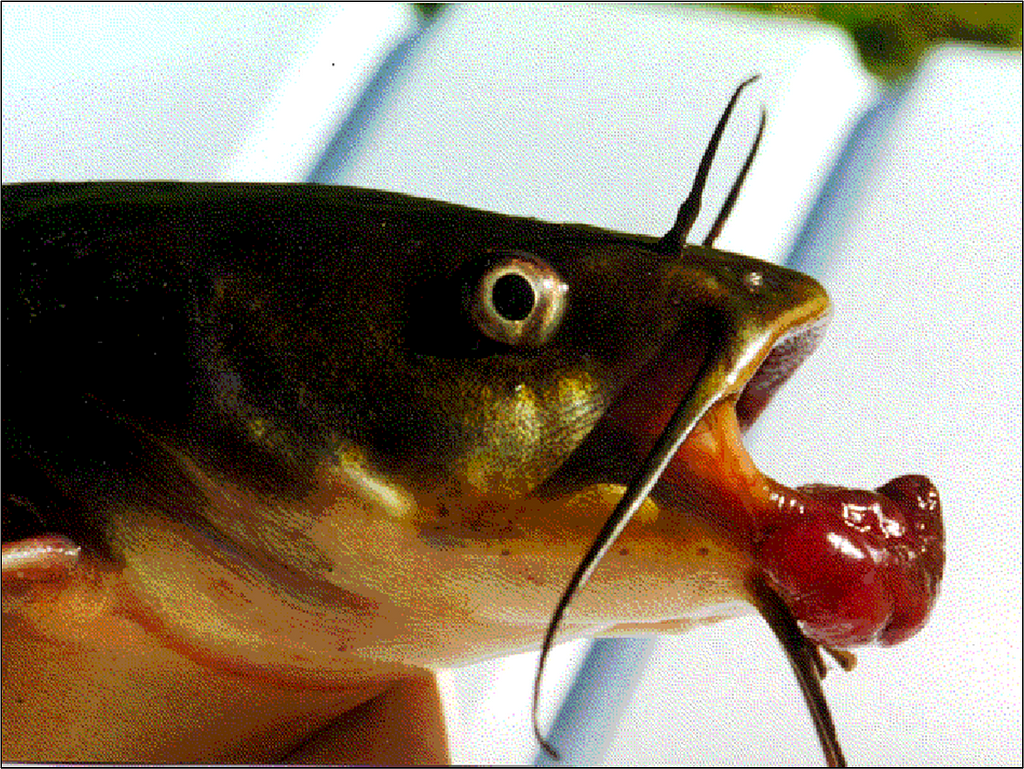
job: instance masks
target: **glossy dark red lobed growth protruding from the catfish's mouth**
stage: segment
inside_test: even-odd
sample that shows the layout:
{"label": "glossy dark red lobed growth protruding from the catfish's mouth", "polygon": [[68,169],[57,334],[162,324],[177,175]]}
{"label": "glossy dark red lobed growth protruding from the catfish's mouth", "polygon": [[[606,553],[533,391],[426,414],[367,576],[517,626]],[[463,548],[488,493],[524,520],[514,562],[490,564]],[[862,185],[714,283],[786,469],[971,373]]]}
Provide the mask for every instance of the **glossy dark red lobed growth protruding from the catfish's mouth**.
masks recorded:
{"label": "glossy dark red lobed growth protruding from the catfish's mouth", "polygon": [[757,537],[758,560],[809,638],[892,645],[924,626],[945,561],[938,492],[922,475],[876,492],[808,485]]}

